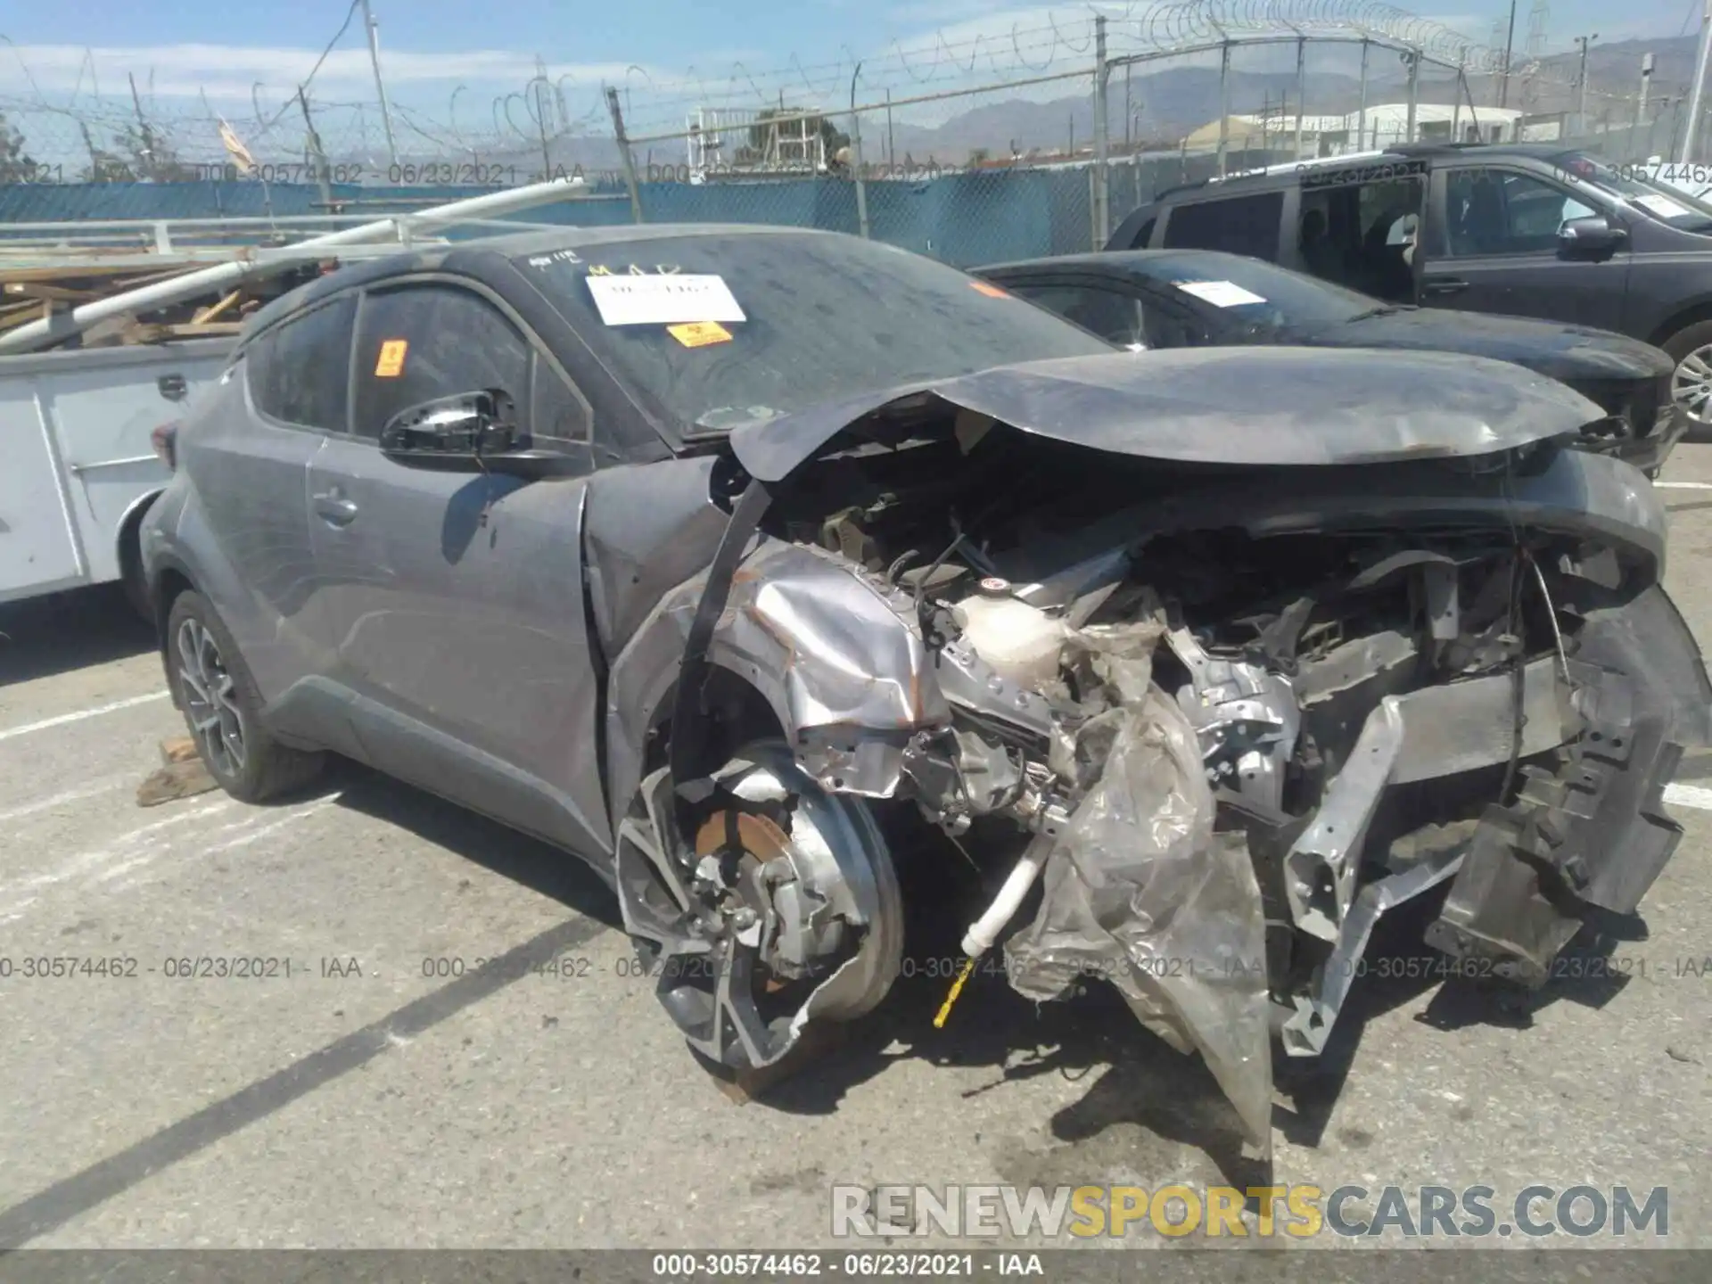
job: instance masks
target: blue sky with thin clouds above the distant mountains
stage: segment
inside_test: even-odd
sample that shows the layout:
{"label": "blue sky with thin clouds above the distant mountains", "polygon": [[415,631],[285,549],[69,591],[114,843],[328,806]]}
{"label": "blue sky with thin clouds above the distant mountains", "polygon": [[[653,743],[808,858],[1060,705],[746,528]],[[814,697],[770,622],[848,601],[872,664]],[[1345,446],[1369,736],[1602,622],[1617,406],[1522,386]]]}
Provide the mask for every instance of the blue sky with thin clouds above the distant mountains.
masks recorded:
{"label": "blue sky with thin clouds above the distant mountains", "polygon": [[[1519,5],[1519,48],[1531,2]],[[1022,67],[1085,65],[1091,14],[1087,5],[1046,9],[1025,0],[373,0],[373,9],[389,89],[409,108],[443,115],[464,84],[469,96],[455,110],[486,113],[493,94],[522,87],[541,58],[574,113],[597,110],[599,84],[613,80],[639,99],[652,92],[661,123],[681,122],[697,96],[755,104],[781,91],[800,99],[806,86],[835,103],[847,96],[858,58],[865,91],[873,87],[865,96],[890,86],[919,92],[1015,79],[1027,74]],[[1115,24],[1128,15],[1128,27],[1140,31],[1145,5],[1104,9]],[[0,99],[63,101],[92,87],[118,98],[128,94],[130,72],[154,103],[188,103],[205,92],[216,104],[248,103],[253,94],[272,106],[308,74],[346,10],[348,0],[14,0],[0,10],[0,36],[12,46],[0,41]],[[1430,15],[1484,41],[1505,10],[1493,0],[1489,9]],[[1606,41],[1674,36],[1691,12],[1697,3],[1685,0],[1635,0],[1620,14],[1608,0],[1553,0],[1548,48],[1566,50],[1590,31]],[[317,101],[372,101],[360,19],[312,92]]]}

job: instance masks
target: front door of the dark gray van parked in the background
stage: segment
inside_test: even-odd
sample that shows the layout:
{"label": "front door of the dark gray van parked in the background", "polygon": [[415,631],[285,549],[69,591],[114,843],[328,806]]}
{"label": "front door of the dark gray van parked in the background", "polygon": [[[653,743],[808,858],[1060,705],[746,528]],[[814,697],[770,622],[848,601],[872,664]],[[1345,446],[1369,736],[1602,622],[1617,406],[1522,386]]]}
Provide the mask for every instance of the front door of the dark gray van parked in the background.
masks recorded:
{"label": "front door of the dark gray van parked in the background", "polygon": [[1433,171],[1433,226],[1424,243],[1421,303],[1462,312],[1541,317],[1618,329],[1632,255],[1566,259],[1558,228],[1614,207],[1520,168],[1455,164]]}

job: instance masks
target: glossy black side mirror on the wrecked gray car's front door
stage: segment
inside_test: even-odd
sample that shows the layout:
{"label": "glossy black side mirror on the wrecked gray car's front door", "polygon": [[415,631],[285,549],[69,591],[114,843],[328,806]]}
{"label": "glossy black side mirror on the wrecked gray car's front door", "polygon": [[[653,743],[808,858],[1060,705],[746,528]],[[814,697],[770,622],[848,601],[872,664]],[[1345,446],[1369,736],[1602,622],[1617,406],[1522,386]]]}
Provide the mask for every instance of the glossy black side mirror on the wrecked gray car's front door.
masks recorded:
{"label": "glossy black side mirror on the wrecked gray car's front door", "polygon": [[409,406],[380,430],[380,454],[435,473],[503,473],[544,478],[570,462],[536,450],[517,428],[517,406],[502,389],[462,392]]}

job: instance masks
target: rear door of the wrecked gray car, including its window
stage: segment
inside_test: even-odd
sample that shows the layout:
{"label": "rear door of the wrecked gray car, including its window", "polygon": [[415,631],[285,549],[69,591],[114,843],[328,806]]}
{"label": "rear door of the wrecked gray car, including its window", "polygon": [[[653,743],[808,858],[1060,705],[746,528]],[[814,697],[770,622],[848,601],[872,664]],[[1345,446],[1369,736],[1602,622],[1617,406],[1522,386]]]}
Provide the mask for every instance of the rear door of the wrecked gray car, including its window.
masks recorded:
{"label": "rear door of the wrecked gray car, including its window", "polygon": [[354,313],[354,293],[334,296],[250,339],[180,440],[223,563],[199,575],[219,596],[276,729],[317,741],[324,728],[296,698],[325,661],[306,474],[327,431],[344,428]]}

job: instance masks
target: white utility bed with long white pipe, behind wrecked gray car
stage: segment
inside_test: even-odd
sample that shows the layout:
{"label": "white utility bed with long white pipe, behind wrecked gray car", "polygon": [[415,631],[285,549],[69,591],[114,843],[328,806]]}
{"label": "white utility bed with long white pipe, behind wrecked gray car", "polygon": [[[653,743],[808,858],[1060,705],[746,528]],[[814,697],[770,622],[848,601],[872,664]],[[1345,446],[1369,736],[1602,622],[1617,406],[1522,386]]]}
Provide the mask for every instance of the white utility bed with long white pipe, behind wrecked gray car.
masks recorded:
{"label": "white utility bed with long white pipe, behind wrecked gray car", "polygon": [[[197,392],[219,378],[236,339],[60,344],[101,322],[217,298],[305,264],[397,253],[442,241],[435,233],[452,226],[478,236],[527,231],[539,224],[500,216],[558,200],[615,199],[579,187],[534,183],[356,226],[349,216],[293,219],[289,231],[272,219],[0,226],[0,274],[7,264],[33,265],[26,270],[211,264],[0,332],[0,603],[84,584],[135,586],[137,527],[171,476],[152,433],[183,418]],[[339,229],[322,231],[329,224]],[[279,245],[281,233],[291,243]],[[235,235],[250,243],[231,245]],[[267,245],[269,238],[276,243]],[[193,334],[197,327],[173,329]]]}

